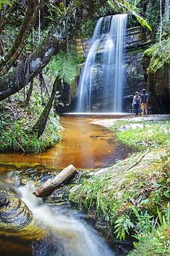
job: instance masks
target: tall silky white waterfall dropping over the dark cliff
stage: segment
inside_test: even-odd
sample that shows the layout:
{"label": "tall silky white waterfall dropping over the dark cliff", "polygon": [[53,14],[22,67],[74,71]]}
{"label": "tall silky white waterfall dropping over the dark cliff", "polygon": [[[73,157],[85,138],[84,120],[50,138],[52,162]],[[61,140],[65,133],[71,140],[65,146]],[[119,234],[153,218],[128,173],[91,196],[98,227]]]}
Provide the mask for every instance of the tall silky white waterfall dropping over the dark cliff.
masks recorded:
{"label": "tall silky white waterfall dropping over the dark cliff", "polygon": [[98,20],[81,71],[76,112],[122,111],[126,24],[125,14]]}

